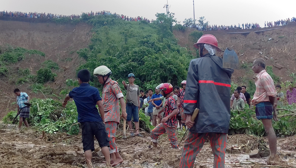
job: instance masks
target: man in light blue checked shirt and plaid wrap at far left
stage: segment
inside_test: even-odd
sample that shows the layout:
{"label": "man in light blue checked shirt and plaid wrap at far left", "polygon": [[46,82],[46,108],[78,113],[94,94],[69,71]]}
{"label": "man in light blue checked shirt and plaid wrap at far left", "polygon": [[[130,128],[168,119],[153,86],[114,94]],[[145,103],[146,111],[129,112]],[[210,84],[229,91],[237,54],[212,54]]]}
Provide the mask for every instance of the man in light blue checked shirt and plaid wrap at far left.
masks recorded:
{"label": "man in light blue checked shirt and plaid wrap at far left", "polygon": [[26,106],[24,103],[30,101],[30,97],[27,93],[21,92],[20,89],[16,88],[14,91],[15,95],[17,96],[17,114],[20,115],[20,123],[18,129],[22,126],[22,122],[27,128],[29,128],[28,121],[26,118],[30,116],[30,107]]}

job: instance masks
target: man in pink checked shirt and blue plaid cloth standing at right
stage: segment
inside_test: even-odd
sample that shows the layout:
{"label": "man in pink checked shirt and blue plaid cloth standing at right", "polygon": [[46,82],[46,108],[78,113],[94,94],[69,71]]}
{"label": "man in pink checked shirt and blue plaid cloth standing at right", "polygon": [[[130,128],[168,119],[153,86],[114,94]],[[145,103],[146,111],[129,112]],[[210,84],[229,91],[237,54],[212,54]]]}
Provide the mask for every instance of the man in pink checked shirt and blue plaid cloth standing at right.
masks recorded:
{"label": "man in pink checked shirt and blue plaid cloth standing at right", "polygon": [[[276,113],[276,90],[274,88],[274,81],[265,70],[265,61],[263,58],[257,58],[253,62],[252,70],[256,75],[255,85],[256,91],[252,104],[256,106],[255,112],[258,120],[261,120],[268,136],[268,144],[270,148],[270,155],[265,159],[268,163],[276,160],[277,149],[276,149],[276,134],[272,127],[273,118],[277,119]],[[272,114],[274,112],[274,114]]]}

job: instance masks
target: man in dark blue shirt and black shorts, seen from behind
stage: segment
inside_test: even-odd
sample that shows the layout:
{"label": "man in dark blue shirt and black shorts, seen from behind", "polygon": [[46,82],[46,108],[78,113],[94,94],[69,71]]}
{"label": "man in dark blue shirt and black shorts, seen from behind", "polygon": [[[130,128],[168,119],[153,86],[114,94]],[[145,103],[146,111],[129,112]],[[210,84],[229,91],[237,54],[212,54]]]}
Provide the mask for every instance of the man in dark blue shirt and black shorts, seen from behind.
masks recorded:
{"label": "man in dark blue shirt and black shorts, seen from behind", "polygon": [[[110,167],[109,138],[105,128],[104,106],[99,90],[90,86],[91,75],[87,69],[81,69],[78,74],[79,87],[74,88],[67,94],[62,105],[66,107],[70,98],[74,99],[78,112],[78,122],[82,129],[82,144],[85,154],[86,164],[91,168],[91,152],[94,151],[94,136],[99,142],[102,153],[106,159],[106,166]],[[99,106],[99,111],[96,108]]]}

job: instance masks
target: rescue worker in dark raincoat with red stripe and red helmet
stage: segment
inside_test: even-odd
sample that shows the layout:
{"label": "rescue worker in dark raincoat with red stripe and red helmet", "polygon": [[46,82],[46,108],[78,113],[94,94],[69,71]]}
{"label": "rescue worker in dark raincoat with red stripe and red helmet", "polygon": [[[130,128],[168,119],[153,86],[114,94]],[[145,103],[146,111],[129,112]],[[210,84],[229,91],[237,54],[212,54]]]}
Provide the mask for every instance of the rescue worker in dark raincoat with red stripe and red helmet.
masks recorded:
{"label": "rescue worker in dark raincoat with red stripe and red helmet", "polygon": [[[184,142],[180,168],[192,168],[197,153],[207,137],[214,154],[214,168],[225,167],[227,132],[230,123],[230,84],[233,69],[223,68],[223,59],[215,56],[218,42],[215,36],[205,34],[194,44],[200,58],[189,64],[184,113],[189,133]],[[195,108],[199,114],[194,122],[191,116]]]}

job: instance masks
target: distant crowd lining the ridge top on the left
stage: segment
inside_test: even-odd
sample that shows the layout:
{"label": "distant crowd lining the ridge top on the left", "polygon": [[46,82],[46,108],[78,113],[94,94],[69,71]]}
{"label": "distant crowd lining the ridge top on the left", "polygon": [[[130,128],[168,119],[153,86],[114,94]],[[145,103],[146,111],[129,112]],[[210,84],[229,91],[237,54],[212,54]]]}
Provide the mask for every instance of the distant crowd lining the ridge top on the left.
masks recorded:
{"label": "distant crowd lining the ridge top on the left", "polygon": [[[88,16],[97,16],[97,15],[113,15],[117,18],[120,18],[120,19],[123,19],[123,20],[126,20],[126,21],[141,21],[141,20],[145,20],[147,21],[148,23],[153,23],[153,20],[148,20],[147,18],[143,18],[143,17],[140,17],[140,16],[137,16],[137,17],[128,17],[128,16],[125,16],[125,15],[119,15],[119,14],[111,14],[110,11],[101,11],[101,12],[88,12],[88,13],[83,13],[83,14],[86,14]],[[15,11],[15,12],[5,12],[5,11],[0,11],[0,16],[5,16],[5,17],[21,17],[21,18],[40,18],[40,19],[52,19],[52,18],[63,18],[63,17],[67,17],[67,18],[71,18],[71,19],[79,19],[81,18],[82,14],[81,15],[57,15],[57,14],[52,14],[52,13],[47,13],[45,14],[44,13],[38,13],[38,12],[18,12],[18,11]]]}

